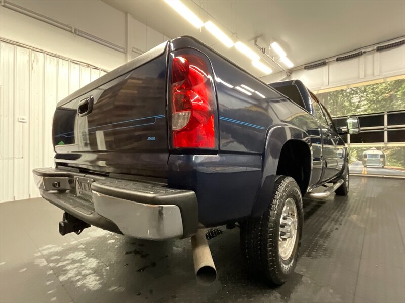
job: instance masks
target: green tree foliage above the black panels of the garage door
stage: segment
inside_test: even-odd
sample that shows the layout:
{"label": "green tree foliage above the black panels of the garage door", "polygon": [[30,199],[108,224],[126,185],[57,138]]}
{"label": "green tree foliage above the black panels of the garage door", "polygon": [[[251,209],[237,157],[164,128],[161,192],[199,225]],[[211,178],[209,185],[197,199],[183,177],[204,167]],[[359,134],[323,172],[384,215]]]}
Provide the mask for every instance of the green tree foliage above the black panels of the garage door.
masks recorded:
{"label": "green tree foliage above the black panels of the garage door", "polygon": [[317,94],[332,117],[405,110],[405,79]]}

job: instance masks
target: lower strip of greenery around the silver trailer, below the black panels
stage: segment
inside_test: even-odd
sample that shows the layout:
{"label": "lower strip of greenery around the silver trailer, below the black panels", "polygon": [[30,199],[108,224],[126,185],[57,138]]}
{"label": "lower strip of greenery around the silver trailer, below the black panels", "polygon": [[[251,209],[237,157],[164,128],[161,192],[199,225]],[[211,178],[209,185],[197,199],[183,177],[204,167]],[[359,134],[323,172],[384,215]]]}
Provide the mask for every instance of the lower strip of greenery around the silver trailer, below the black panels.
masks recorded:
{"label": "lower strip of greenery around the silver trailer, below the black panels", "polygon": [[[349,163],[361,161],[363,152],[369,150],[371,147],[350,147],[349,148]],[[387,166],[395,166],[405,168],[405,146],[389,146],[389,147],[376,147],[382,150],[386,157]]]}

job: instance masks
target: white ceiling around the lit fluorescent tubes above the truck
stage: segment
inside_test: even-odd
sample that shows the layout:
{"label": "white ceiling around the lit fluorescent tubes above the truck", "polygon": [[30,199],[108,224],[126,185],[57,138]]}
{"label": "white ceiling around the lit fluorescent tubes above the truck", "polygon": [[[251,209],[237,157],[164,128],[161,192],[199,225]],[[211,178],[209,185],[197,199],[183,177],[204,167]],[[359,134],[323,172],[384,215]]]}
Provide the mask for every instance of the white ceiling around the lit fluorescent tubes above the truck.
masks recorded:
{"label": "white ceiling around the lit fluorescent tubes above the truck", "polygon": [[[264,74],[234,47],[226,48],[205,28],[194,28],[161,0],[104,0],[130,13],[151,28],[175,38],[191,35],[212,46],[257,77]],[[266,46],[277,41],[295,66],[340,55],[354,49],[405,35],[402,0],[183,0],[203,22],[211,20],[234,42],[255,49],[253,39]],[[280,71],[264,55],[262,60]]]}

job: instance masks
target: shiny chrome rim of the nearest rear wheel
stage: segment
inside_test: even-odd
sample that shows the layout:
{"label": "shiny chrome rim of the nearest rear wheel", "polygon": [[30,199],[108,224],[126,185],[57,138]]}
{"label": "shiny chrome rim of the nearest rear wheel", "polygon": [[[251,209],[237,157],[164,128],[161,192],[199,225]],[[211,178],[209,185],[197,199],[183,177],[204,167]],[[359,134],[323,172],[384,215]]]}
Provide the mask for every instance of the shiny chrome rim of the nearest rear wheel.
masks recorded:
{"label": "shiny chrome rim of the nearest rear wheel", "polygon": [[278,253],[282,260],[288,260],[294,251],[297,238],[297,207],[293,198],[288,198],[282,208]]}

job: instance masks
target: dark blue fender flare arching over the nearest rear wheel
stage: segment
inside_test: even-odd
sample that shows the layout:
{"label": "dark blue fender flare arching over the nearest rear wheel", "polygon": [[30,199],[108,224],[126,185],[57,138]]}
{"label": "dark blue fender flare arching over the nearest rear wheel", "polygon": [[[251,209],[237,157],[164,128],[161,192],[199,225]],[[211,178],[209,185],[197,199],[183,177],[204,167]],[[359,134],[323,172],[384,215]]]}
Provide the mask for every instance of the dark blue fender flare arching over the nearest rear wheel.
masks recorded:
{"label": "dark blue fender flare arching over the nearest rear wheel", "polygon": [[292,139],[300,140],[308,144],[312,154],[312,145],[309,135],[293,125],[287,123],[276,124],[267,132],[263,156],[263,174],[252,208],[252,217],[259,217],[266,210],[273,192],[282,146]]}

